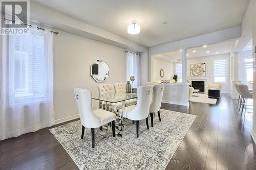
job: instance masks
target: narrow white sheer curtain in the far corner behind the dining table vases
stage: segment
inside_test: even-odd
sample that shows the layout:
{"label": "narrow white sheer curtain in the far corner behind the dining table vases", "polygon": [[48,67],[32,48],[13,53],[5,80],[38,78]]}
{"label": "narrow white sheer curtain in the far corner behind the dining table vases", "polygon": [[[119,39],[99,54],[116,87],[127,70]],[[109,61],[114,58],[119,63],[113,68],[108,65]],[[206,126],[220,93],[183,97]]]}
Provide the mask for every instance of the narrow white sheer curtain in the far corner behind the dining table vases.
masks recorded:
{"label": "narrow white sheer curtain in the far corner behind the dining table vases", "polygon": [[135,77],[133,88],[140,86],[140,55],[125,51],[126,53],[126,80],[130,80],[131,76]]}

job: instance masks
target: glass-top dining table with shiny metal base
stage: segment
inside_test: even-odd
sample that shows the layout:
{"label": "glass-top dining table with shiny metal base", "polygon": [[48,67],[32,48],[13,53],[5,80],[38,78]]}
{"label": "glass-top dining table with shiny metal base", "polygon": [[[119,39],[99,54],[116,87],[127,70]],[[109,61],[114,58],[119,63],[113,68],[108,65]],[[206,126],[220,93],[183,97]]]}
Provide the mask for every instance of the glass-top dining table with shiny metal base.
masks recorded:
{"label": "glass-top dining table with shiny metal base", "polygon": [[[131,100],[131,99],[136,99],[137,98],[137,93],[106,93],[106,94],[101,94],[101,95],[93,95],[92,99],[98,100],[100,109],[105,109],[109,111],[115,112],[115,110],[112,108],[112,104],[121,102],[122,103],[122,112],[117,113],[118,114],[118,122],[116,123],[116,129],[118,130],[117,135],[123,136],[124,133],[124,124],[123,124],[123,114],[125,113],[125,101]],[[102,107],[102,102],[105,102],[105,107]],[[108,109],[109,108],[109,109]],[[110,109],[112,108],[112,110]]]}

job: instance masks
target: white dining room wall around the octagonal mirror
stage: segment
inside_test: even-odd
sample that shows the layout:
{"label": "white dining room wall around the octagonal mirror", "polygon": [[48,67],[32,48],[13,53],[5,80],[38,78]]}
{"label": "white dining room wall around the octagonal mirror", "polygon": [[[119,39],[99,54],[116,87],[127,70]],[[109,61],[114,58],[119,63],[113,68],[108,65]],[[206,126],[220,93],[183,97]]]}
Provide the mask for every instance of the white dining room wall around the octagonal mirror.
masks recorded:
{"label": "white dining room wall around the octagonal mirror", "polygon": [[[98,94],[98,84],[90,77],[96,59],[110,66],[110,77],[103,83],[125,82],[125,53],[122,48],[59,31],[53,44],[55,119],[78,114],[74,88],[90,88]],[[94,101],[94,108],[98,102]]]}

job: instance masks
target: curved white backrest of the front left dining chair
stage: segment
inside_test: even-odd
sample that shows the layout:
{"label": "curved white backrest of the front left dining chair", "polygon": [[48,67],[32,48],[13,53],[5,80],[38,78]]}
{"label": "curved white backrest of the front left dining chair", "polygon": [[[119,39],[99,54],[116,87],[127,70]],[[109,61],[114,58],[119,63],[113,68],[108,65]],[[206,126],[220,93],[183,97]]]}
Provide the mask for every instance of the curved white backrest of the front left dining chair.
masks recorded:
{"label": "curved white backrest of the front left dining chair", "polygon": [[92,108],[92,92],[89,89],[75,88],[75,99],[82,126],[92,128],[100,124]]}

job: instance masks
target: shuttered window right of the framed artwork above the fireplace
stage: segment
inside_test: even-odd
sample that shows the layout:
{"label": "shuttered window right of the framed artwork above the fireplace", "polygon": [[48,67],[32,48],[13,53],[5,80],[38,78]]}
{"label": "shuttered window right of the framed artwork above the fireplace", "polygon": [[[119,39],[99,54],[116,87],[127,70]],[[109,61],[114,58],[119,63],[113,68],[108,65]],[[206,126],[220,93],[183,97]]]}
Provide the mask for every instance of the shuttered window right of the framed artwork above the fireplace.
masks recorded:
{"label": "shuttered window right of the framed artwork above the fireplace", "polygon": [[214,61],[214,82],[225,83],[226,82],[226,60]]}

